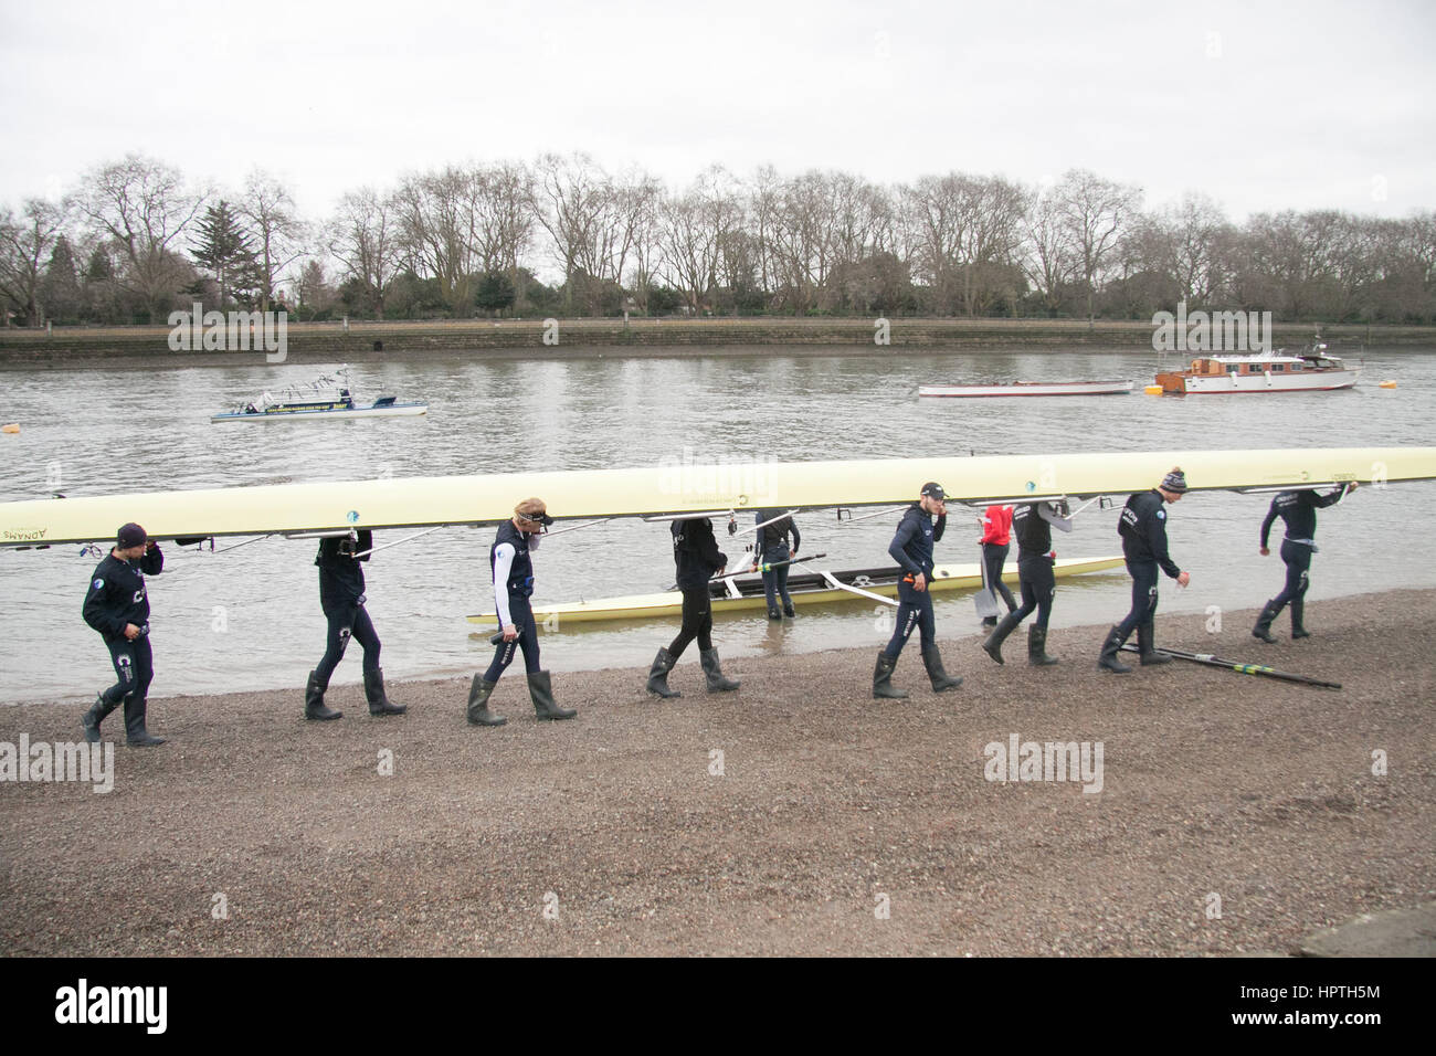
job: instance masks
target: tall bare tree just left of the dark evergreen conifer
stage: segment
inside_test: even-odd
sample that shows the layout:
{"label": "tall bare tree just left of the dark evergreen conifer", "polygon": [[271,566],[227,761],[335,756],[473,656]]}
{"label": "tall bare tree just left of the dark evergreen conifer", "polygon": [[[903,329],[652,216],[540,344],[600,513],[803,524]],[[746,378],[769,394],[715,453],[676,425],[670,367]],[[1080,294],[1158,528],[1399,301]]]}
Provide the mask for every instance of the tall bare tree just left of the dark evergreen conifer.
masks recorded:
{"label": "tall bare tree just left of the dark evergreen conifer", "polygon": [[79,217],[118,250],[115,283],[138,295],[151,318],[164,315],[192,273],[177,244],[207,191],[191,191],[180,170],[129,154],[88,172],[69,200]]}

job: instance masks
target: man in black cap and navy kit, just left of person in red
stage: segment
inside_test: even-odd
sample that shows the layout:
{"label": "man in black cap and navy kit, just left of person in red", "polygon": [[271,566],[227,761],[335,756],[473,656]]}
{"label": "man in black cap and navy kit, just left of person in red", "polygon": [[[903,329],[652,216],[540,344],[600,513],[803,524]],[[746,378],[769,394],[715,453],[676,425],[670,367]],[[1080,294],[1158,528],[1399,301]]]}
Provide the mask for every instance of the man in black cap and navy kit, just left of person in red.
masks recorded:
{"label": "man in black cap and navy kit, just left of person in red", "polygon": [[[928,579],[933,568],[932,545],[942,539],[942,532],[948,526],[948,507],[943,500],[941,484],[931,481],[923,484],[918,501],[903,513],[898,533],[887,547],[887,553],[906,575],[898,583],[898,626],[893,628],[887,648],[877,654],[877,667],[873,668],[873,697],[879,700],[902,700],[908,695],[905,690],[893,688],[892,677],[913,626],[919,631],[922,662],[928,668],[932,691],[943,693],[962,685],[961,678],[942,670],[938,628],[932,616],[932,595],[928,592]],[[938,517],[936,523],[932,520],[933,514]]]}

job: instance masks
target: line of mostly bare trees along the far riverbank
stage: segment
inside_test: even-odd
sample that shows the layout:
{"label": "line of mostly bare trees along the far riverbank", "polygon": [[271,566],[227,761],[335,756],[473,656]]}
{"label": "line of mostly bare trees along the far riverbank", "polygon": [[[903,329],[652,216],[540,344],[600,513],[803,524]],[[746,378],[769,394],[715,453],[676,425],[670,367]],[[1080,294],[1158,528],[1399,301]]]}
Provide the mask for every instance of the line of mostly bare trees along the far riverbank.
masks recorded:
{"label": "line of mostly bare trees along the far riverbank", "polygon": [[[538,273],[557,276],[551,284]],[[685,188],[583,154],[449,165],[300,216],[256,170],[195,185],[157,159],[96,165],[59,201],[0,210],[6,325],[164,322],[175,307],[300,320],[477,316],[935,315],[1436,322],[1436,213],[1338,210],[1231,223],[1200,194],[1155,210],[1073,170],[883,185],[840,171]]]}

